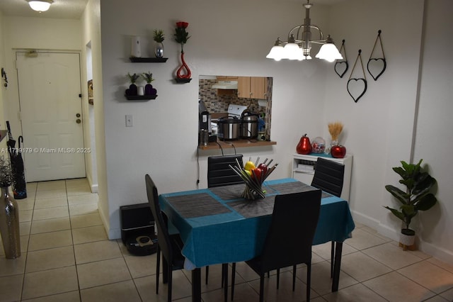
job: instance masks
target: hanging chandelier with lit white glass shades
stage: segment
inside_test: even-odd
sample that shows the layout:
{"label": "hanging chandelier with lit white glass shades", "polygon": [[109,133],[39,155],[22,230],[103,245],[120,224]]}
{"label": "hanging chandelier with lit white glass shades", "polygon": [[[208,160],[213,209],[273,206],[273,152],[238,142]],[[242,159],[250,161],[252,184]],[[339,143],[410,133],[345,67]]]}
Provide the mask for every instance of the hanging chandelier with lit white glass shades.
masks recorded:
{"label": "hanging chandelier with lit white glass shades", "polygon": [[[307,0],[306,4],[304,4],[304,24],[289,30],[287,41],[282,41],[280,38],[277,38],[275,45],[271,48],[268,55],[266,55],[268,59],[274,59],[275,61],[280,61],[282,59],[299,61],[311,60],[311,43],[322,44],[321,49],[316,55],[318,59],[323,59],[328,62],[343,59],[338,48],[333,44],[331,35],[327,35],[327,38],[324,39],[321,29],[318,26],[311,24],[311,6],[313,6],[313,4],[310,3],[310,0]],[[312,29],[318,31],[319,40],[311,40]]]}

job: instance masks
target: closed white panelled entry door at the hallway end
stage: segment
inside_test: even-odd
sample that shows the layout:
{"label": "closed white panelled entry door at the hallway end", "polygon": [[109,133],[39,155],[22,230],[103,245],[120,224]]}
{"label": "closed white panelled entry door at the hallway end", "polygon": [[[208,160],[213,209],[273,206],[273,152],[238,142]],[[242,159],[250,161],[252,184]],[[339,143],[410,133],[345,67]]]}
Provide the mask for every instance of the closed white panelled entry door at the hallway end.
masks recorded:
{"label": "closed white panelled entry door at the hallway end", "polygon": [[86,175],[79,57],[16,52],[26,181]]}

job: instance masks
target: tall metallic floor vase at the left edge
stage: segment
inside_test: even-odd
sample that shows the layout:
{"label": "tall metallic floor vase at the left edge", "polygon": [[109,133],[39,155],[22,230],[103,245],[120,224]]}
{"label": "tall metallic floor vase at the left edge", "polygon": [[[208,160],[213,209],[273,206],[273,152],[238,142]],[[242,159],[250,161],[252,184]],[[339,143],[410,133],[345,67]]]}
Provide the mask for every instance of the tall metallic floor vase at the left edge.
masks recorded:
{"label": "tall metallic floor vase at the left edge", "polygon": [[1,188],[0,234],[7,259],[21,256],[21,233],[19,230],[19,208],[9,195],[8,187]]}

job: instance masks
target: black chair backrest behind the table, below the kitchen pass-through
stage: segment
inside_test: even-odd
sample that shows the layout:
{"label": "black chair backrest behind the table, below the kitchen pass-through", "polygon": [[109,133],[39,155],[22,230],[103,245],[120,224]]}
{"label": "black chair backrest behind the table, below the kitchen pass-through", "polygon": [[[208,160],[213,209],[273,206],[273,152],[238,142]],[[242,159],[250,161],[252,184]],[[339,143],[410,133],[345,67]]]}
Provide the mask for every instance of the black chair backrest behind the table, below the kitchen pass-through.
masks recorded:
{"label": "black chair backrest behind the table, below the kitchen pass-through", "polygon": [[207,157],[207,187],[243,184],[241,177],[229,167],[237,166],[236,160],[242,167],[241,154]]}

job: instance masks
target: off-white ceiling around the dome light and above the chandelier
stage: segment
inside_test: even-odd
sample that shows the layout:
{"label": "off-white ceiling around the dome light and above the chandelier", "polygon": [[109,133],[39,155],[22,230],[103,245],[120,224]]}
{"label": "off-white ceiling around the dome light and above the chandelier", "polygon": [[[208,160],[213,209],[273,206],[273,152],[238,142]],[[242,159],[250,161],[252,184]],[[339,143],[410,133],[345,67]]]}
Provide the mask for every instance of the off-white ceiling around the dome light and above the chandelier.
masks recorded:
{"label": "off-white ceiling around the dome light and above the chandelier", "polygon": [[[88,0],[53,0],[54,3],[48,11],[38,13],[28,6],[26,0],[0,0],[0,11],[4,16],[22,16],[36,18],[61,18],[61,19],[79,19],[84,12]],[[130,0],[131,1],[131,0]],[[305,3],[306,0],[287,0],[300,1]],[[314,4],[336,4],[345,0],[310,0]]]}

